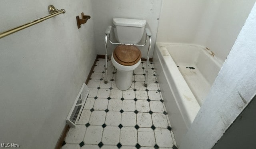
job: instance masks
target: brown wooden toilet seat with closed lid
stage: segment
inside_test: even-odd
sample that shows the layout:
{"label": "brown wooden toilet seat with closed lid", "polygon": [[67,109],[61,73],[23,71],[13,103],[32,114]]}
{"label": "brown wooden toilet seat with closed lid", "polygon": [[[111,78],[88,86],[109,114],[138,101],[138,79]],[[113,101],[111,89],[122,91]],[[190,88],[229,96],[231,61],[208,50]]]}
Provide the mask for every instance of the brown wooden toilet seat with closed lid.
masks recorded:
{"label": "brown wooden toilet seat with closed lid", "polygon": [[136,46],[118,45],[113,52],[113,58],[121,65],[132,66],[141,59],[141,52]]}

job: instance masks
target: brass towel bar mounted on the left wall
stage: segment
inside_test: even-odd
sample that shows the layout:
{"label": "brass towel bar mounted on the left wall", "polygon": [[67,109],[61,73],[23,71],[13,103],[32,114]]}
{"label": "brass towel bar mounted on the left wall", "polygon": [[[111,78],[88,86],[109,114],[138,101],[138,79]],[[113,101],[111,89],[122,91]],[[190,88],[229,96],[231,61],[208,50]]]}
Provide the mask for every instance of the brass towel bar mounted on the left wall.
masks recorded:
{"label": "brass towel bar mounted on the left wall", "polygon": [[57,15],[59,15],[59,14],[64,14],[66,11],[65,11],[64,9],[58,10],[58,9],[56,9],[54,6],[49,5],[49,6],[48,6],[48,12],[49,12],[49,14],[50,14],[50,15],[48,15],[48,16],[44,16],[44,17],[39,18],[39,19],[36,19],[36,20],[34,20],[34,21],[32,21],[32,22],[28,22],[28,23],[26,23],[26,24],[24,24],[24,25],[21,25],[21,26],[18,26],[18,27],[16,27],[16,28],[12,28],[11,30],[8,30],[8,31],[6,31],[6,32],[0,33],[0,38],[3,38],[3,37],[5,37],[5,36],[8,36],[8,35],[13,34],[13,33],[15,33],[15,32],[18,32],[18,31],[20,31],[20,30],[23,30],[24,28],[28,28],[29,26],[38,24],[38,23],[40,23],[40,22],[42,22],[42,21],[44,21],[44,20],[47,20],[47,19],[52,18],[52,17],[54,17],[54,16],[57,16]]}

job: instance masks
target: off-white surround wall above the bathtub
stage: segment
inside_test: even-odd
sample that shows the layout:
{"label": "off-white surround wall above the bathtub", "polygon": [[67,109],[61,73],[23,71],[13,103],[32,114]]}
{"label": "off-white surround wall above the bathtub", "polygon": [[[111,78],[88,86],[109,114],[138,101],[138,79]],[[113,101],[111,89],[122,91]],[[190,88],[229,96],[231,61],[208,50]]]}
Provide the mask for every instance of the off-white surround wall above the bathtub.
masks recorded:
{"label": "off-white surround wall above the bathtub", "polygon": [[255,0],[163,0],[156,42],[198,44],[222,62]]}

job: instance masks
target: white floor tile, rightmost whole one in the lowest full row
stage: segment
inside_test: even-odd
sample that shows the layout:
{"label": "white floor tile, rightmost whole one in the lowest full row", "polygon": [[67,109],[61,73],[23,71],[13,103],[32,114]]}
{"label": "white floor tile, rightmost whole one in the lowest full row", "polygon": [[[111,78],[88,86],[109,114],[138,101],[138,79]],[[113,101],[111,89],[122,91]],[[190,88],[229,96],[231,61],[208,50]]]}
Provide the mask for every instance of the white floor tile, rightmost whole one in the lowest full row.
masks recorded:
{"label": "white floor tile, rightmost whole one in the lowest full row", "polygon": [[155,130],[156,144],[159,147],[172,147],[172,136],[166,128],[156,128]]}

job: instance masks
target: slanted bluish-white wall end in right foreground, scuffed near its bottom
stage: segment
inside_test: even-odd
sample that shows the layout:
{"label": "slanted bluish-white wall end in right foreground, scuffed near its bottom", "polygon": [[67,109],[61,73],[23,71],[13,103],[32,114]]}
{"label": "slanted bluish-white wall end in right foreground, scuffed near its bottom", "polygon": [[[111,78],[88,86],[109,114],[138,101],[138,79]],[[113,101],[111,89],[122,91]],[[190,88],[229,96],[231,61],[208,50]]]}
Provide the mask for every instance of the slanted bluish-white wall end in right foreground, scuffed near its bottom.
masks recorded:
{"label": "slanted bluish-white wall end in right foreground, scuffed near its bottom", "polygon": [[255,20],[256,4],[179,149],[211,149],[255,96]]}

